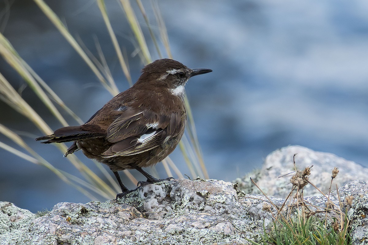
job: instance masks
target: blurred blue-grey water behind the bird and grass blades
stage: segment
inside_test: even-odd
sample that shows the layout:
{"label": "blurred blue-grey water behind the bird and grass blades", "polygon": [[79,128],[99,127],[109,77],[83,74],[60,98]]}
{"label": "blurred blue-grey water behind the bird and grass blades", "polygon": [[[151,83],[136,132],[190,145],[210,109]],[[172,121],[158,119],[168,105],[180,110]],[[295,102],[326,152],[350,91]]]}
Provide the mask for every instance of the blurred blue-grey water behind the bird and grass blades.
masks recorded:
{"label": "blurred blue-grey water behind the bird and grass blades", "polygon": [[[87,120],[110,100],[33,1],[1,1],[1,32],[68,107]],[[46,2],[96,55],[98,39],[117,86],[128,89],[95,1]],[[143,65],[130,27],[117,1],[106,4],[135,81]],[[144,4],[154,23],[151,3]],[[186,87],[211,178],[234,180],[261,167],[271,151],[292,144],[368,166],[368,1],[160,0],[158,5],[174,59],[213,69]],[[148,29],[143,31],[149,37]],[[153,59],[159,58],[152,43],[149,47]],[[3,60],[0,72],[53,129],[61,127]],[[35,142],[42,133],[3,102],[0,123],[17,130],[56,167],[76,171],[56,147]],[[0,140],[14,145],[3,136]],[[46,168],[3,149],[0,154],[0,201],[32,212],[57,202],[90,201]],[[81,152],[77,155],[95,168]],[[171,158],[189,173],[179,149]],[[166,177],[161,164],[157,170]]]}

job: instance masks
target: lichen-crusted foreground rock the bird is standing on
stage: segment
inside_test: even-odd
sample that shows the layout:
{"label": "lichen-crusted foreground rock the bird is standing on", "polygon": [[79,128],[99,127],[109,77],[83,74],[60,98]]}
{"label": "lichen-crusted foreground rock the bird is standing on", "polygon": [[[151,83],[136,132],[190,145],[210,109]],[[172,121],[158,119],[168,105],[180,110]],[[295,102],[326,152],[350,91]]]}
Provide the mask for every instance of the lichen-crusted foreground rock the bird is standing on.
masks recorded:
{"label": "lichen-crusted foreground rock the bird is standing on", "polygon": [[[361,231],[354,238],[362,241],[368,214],[360,200],[368,199],[367,184],[353,181],[339,194],[355,197],[349,212]],[[305,199],[326,206],[326,197]],[[330,199],[338,204],[336,191]],[[284,202],[270,200],[279,207]],[[263,222],[272,220],[267,204],[266,197],[243,195],[228,182],[186,179],[145,185],[118,202],[58,203],[41,217],[3,202],[0,244],[249,244],[245,238],[259,241]]]}

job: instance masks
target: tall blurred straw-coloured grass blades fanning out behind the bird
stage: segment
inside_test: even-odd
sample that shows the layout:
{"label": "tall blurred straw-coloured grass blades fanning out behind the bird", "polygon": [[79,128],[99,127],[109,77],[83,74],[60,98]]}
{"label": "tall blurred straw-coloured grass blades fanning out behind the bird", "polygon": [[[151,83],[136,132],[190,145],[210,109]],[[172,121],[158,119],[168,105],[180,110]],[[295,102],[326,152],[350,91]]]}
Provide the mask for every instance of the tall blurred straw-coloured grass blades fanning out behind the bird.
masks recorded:
{"label": "tall blurred straw-coloured grass blades fanning out behind the bird", "polygon": [[[79,44],[76,39],[71,35],[68,31],[66,25],[63,24],[61,19],[51,10],[51,8],[45,3],[44,0],[34,0],[40,10],[49,18],[50,22],[56,26],[61,35],[70,43],[70,45],[74,48],[74,50],[80,55],[80,57],[85,61],[85,63],[89,66],[92,72],[95,74],[96,78],[100,81],[102,86],[109,91],[113,96],[118,94],[118,89],[116,83],[113,79],[113,76],[110,72],[109,66],[106,62],[105,56],[102,52],[102,49],[95,38],[96,49],[98,53],[98,58],[95,57],[91,53],[91,51],[86,48],[79,39]],[[148,64],[152,62],[151,54],[149,53],[148,46],[146,44],[146,39],[143,35],[141,26],[138,23],[137,17],[131,7],[129,0],[120,0],[121,6],[123,8],[123,12],[129,22],[132,32],[134,34],[134,39],[138,44],[137,50],[140,57],[142,57],[142,62],[144,64]],[[155,43],[156,49],[161,56],[161,52],[159,50],[159,45],[149,24],[148,17],[146,16],[146,12],[140,0],[137,0],[138,7],[146,21],[148,29],[151,34],[151,38]],[[109,32],[110,39],[112,40],[113,47],[115,49],[117,58],[120,62],[121,69],[124,72],[125,77],[127,78],[129,84],[131,85],[131,76],[128,68],[128,61],[121,52],[120,45],[117,41],[116,35],[112,28],[112,24],[109,19],[109,15],[107,13],[107,8],[105,6],[104,0],[98,0],[97,5],[100,9],[103,21],[105,22],[106,28]],[[156,8],[156,5],[153,5]],[[163,45],[166,49],[167,54],[171,58],[171,52],[169,47],[169,39],[167,37],[167,31],[160,16],[159,10],[154,9],[154,14],[156,17],[156,21],[158,22],[158,28],[160,32],[161,39],[163,40]],[[78,37],[77,37],[78,39]],[[133,41],[135,44],[135,41]],[[40,101],[50,110],[53,116],[59,120],[61,125],[68,126],[67,121],[63,118],[59,110],[55,105],[58,105],[62,110],[71,115],[79,124],[83,124],[83,121],[71,111],[63,101],[50,89],[49,86],[38,76],[33,69],[26,64],[24,60],[20,57],[20,55],[14,50],[13,46],[8,42],[8,40],[0,33],[0,55],[10,64],[10,66],[19,73],[19,75],[26,81],[28,86],[35,92]],[[11,108],[15,111],[19,112],[26,119],[30,120],[41,132],[42,134],[52,134],[53,130],[49,125],[37,114],[37,112],[21,97],[21,95],[10,85],[7,79],[0,74],[0,99],[6,102]],[[201,155],[201,150],[199,147],[197,135],[195,133],[194,122],[192,119],[192,114],[190,111],[189,104],[186,102],[188,119],[190,121],[190,126],[187,127],[187,132],[190,137],[190,141],[185,139],[185,144],[183,142],[180,143],[180,149],[183,152],[183,157],[188,164],[190,172],[193,177],[201,176],[208,179],[208,174],[206,172],[204,162]],[[36,163],[48,167],[52,170],[57,176],[66,181],[67,183],[73,185],[79,191],[81,191],[86,196],[91,199],[98,199],[92,195],[92,192],[102,196],[104,199],[114,198],[116,195],[116,191],[120,191],[116,181],[113,180],[111,174],[109,174],[106,169],[96,163],[100,172],[102,172],[103,176],[108,181],[108,184],[102,181],[100,177],[96,173],[93,173],[91,169],[89,169],[84,163],[82,163],[75,155],[69,155],[67,160],[72,163],[72,165],[82,174],[85,180],[79,179],[75,176],[72,176],[68,173],[61,172],[55,169],[49,162],[40,158],[40,156],[35,155],[35,152],[32,152],[32,149],[28,147],[21,140],[21,138],[14,133],[14,131],[7,129],[6,127],[0,125],[1,130],[0,133],[6,135],[8,138],[13,140],[18,146],[24,150],[29,152],[31,155],[25,154],[18,149],[11,147],[10,145],[4,144],[0,142],[0,147],[6,149],[7,151],[12,152],[14,155],[17,155],[23,159],[26,159],[29,162]],[[60,149],[61,152],[66,152],[67,147],[65,144],[55,144],[57,148]],[[192,148],[194,147],[194,149]],[[170,158],[165,159],[163,166],[169,176],[171,176],[171,169],[177,174],[179,178],[183,178],[183,174],[178,170],[175,164],[171,161]],[[134,183],[137,184],[137,180],[128,172],[128,170],[124,170],[125,175]],[[112,186],[112,187],[110,187]],[[91,191],[91,192],[90,192]]]}

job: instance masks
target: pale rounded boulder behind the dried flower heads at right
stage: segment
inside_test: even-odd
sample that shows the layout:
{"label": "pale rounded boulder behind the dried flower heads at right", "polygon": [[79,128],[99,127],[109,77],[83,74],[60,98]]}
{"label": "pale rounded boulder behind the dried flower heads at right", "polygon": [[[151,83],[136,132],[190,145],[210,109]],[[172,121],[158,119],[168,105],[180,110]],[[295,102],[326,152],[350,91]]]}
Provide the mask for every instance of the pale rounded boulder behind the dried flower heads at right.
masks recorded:
{"label": "pale rounded boulder behind the dried flower heads at right", "polygon": [[[258,188],[251,184],[250,177],[257,183],[266,195],[286,198],[290,192],[290,177],[293,175],[293,156],[298,170],[312,166],[309,181],[317,186],[323,193],[328,193],[331,182],[331,171],[339,168],[339,174],[333,180],[332,190],[354,180],[368,181],[368,169],[352,161],[331,153],[317,152],[298,145],[278,149],[266,157],[261,170],[255,170],[244,178],[238,178],[240,190],[247,193],[261,194]],[[312,185],[304,188],[308,196],[322,195]]]}

